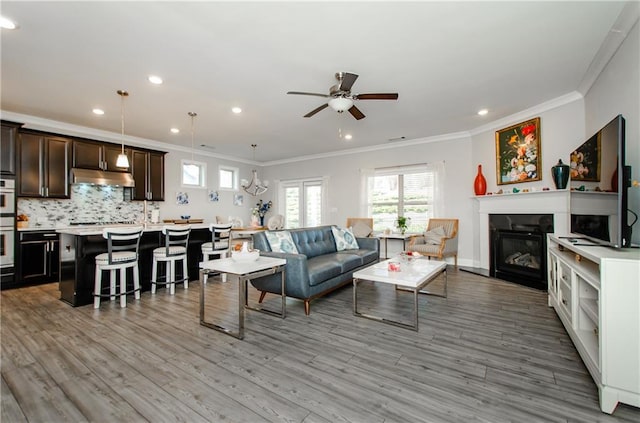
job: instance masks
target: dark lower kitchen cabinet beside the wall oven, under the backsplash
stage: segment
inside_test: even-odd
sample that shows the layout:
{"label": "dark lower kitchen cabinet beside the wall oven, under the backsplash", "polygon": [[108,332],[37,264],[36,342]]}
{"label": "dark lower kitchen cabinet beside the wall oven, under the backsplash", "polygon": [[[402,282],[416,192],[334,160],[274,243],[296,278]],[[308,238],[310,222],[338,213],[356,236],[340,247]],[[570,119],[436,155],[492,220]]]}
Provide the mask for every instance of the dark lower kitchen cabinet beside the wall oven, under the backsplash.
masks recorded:
{"label": "dark lower kitchen cabinet beside the wall oven, under the backsplash", "polygon": [[19,232],[17,255],[18,285],[58,281],[60,242],[54,231]]}

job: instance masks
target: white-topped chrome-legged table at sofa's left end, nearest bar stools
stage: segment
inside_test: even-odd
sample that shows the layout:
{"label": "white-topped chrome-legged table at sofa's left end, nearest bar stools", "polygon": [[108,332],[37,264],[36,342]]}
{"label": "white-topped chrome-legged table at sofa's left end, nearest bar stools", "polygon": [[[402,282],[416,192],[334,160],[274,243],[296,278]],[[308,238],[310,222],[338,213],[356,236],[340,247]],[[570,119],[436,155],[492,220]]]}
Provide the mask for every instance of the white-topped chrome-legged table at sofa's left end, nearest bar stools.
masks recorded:
{"label": "white-topped chrome-legged table at sofa's left end, nearest bar stools", "polygon": [[[255,310],[262,313],[271,314],[281,318],[285,318],[286,315],[286,300],[285,293],[285,274],[284,268],[287,264],[287,260],[262,257],[258,260],[251,262],[236,262],[232,258],[223,258],[219,260],[209,260],[200,263],[200,324],[211,329],[215,329],[219,332],[226,333],[238,339],[244,338],[244,310]],[[233,331],[229,328],[217,325],[212,322],[207,322],[205,319],[204,306],[205,306],[205,275],[209,273],[224,273],[227,274],[232,280],[238,281],[238,331]],[[247,282],[251,279],[259,278],[261,276],[274,275],[280,273],[282,280],[282,308],[280,312],[271,311],[263,308],[250,307],[249,299],[247,295]]]}

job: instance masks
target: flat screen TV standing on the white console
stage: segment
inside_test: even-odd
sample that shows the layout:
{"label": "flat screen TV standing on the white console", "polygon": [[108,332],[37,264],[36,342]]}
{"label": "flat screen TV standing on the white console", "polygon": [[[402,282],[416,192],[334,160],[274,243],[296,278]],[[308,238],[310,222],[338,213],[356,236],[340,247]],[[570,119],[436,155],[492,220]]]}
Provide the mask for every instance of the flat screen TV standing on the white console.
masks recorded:
{"label": "flat screen TV standing on the white console", "polygon": [[631,246],[625,121],[616,116],[571,153],[571,232],[614,248]]}

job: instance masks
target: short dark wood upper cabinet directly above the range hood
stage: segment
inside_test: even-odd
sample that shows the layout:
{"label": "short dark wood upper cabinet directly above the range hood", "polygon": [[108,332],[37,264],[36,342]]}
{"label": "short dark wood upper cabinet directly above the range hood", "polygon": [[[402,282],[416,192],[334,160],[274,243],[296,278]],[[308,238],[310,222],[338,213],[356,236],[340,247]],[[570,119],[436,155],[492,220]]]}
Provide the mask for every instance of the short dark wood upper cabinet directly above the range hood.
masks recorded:
{"label": "short dark wood upper cabinet directly above the range hood", "polygon": [[[110,172],[129,172],[128,167],[116,166],[122,147],[117,144],[97,141],[73,141],[73,167],[81,169],[108,170]],[[131,161],[131,150],[125,148],[125,154]]]}

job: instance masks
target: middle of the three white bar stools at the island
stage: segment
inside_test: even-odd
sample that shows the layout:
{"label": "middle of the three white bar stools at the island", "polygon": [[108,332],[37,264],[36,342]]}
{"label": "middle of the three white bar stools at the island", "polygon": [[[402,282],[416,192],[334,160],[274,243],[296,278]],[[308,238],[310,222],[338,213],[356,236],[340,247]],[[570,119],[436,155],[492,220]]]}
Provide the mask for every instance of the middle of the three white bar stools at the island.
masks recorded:
{"label": "middle of the three white bar stools at the island", "polygon": [[[151,293],[156,293],[157,285],[169,285],[171,295],[176,292],[176,283],[184,282],[184,288],[189,287],[187,271],[187,247],[189,245],[189,225],[168,225],[162,228],[165,236],[165,246],[153,250],[153,270],[151,272]],[[176,280],[176,262],[182,260],[182,279]],[[158,267],[165,263],[165,276],[158,281]]]}

